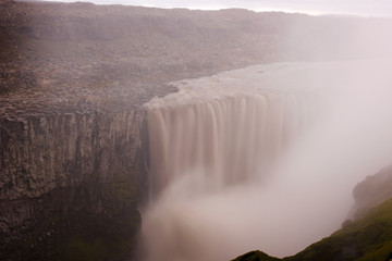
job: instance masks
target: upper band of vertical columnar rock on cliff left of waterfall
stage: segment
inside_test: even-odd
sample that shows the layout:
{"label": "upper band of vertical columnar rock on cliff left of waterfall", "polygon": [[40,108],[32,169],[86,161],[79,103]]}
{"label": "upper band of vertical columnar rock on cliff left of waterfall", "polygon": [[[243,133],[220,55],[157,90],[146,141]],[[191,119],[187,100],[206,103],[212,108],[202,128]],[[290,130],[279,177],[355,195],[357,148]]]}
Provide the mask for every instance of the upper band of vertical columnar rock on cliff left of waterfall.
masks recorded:
{"label": "upper band of vertical columnar rock on cliff left of waterfall", "polygon": [[142,111],[3,120],[0,199],[122,176],[137,164],[143,122]]}

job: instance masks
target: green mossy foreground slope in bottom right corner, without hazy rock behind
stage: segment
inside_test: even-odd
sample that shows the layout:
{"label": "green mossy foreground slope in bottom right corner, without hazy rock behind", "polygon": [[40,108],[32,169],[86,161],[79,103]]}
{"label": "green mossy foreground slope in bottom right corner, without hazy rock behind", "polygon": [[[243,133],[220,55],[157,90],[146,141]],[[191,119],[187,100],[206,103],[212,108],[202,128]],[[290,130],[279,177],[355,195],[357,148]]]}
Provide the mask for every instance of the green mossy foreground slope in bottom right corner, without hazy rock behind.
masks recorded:
{"label": "green mossy foreground slope in bottom right corner, without hazy rock behind", "polygon": [[253,251],[234,261],[373,261],[387,260],[391,251],[392,199],[389,199],[363,219],[345,223],[342,229],[293,257],[275,259],[260,251]]}

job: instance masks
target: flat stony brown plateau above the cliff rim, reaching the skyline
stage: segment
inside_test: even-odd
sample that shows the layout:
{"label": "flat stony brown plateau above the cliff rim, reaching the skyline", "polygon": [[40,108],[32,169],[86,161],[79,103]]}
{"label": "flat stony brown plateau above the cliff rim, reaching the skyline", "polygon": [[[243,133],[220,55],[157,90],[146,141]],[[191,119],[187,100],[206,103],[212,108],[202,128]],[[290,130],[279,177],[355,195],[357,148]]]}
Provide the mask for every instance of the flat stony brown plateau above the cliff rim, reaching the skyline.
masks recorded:
{"label": "flat stony brown plateau above the cliff rim, reaching the skyline", "polygon": [[0,117],[138,108],[174,91],[167,85],[172,80],[271,61],[363,57],[368,51],[358,52],[358,24],[372,33],[378,23],[1,1]]}

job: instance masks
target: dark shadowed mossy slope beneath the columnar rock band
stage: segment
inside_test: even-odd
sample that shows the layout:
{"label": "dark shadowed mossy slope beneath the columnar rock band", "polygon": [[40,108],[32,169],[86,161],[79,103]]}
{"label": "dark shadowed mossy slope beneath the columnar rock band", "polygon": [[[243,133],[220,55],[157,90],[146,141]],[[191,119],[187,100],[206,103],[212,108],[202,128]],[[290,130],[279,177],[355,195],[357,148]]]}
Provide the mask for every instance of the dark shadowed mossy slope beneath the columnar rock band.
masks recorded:
{"label": "dark shadowed mossy slope beneath the columnar rock band", "polygon": [[9,243],[1,260],[126,260],[142,222],[131,178],[84,184],[57,196],[50,206],[61,209],[40,219],[23,239]]}

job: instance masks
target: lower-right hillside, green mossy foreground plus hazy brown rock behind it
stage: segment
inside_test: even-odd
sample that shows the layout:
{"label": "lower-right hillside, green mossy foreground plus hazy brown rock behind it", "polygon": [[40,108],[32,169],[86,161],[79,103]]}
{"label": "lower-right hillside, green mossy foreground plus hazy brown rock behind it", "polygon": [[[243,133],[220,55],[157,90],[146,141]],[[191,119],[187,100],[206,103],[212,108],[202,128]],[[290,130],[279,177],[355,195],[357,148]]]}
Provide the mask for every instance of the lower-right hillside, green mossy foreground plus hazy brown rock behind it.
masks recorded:
{"label": "lower-right hillside, green mossy foreground plus hazy brown rock behind it", "polygon": [[331,236],[313,244],[293,257],[273,259],[260,251],[235,261],[373,261],[387,260],[392,252],[392,198],[390,167],[367,177],[354,189],[357,220],[346,221]]}

